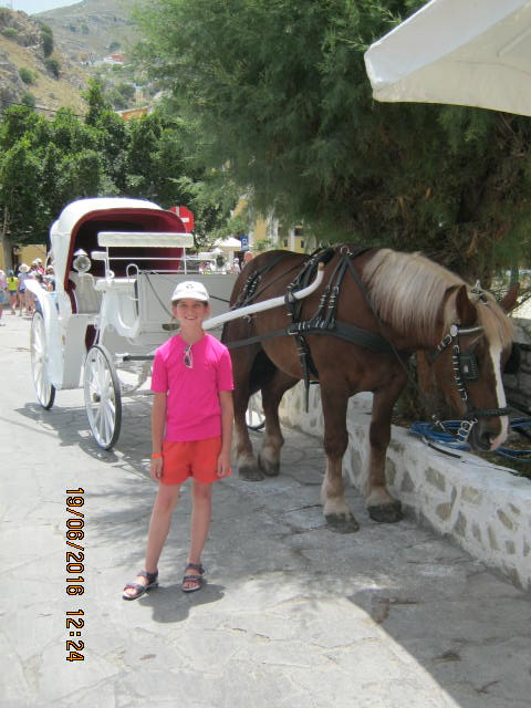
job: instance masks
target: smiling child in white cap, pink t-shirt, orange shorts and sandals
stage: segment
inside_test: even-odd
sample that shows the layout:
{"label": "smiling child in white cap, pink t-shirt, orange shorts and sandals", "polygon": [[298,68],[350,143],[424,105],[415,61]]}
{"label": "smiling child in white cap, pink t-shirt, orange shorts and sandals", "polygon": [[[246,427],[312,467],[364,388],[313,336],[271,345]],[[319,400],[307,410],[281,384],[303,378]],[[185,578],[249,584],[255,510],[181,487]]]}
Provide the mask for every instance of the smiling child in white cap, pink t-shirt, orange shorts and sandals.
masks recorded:
{"label": "smiling child in white cap, pink t-shirt, orange shorts and sandals", "polygon": [[152,377],[150,475],[158,482],[158,492],[147,534],[145,570],[124,587],[124,600],[136,600],[158,584],[158,560],[180,485],[189,477],[190,546],[181,590],[201,590],[201,553],[210,527],[212,482],[230,475],[232,364],[225,344],[202,329],[210,314],[205,285],[191,280],[178,283],[171,313],[180,331],[156,351]]}

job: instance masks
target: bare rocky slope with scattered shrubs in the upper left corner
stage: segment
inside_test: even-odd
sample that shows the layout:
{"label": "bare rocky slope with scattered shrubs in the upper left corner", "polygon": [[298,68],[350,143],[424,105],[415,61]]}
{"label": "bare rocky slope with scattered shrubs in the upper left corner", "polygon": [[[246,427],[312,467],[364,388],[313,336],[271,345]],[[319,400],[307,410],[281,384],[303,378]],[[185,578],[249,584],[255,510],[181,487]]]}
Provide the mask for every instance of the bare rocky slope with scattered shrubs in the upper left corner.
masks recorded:
{"label": "bare rocky slope with scattered shrubs in the upper left corner", "polygon": [[[48,40],[48,41],[46,41]],[[87,73],[65,56],[34,18],[0,8],[0,108],[12,104],[84,113]]]}

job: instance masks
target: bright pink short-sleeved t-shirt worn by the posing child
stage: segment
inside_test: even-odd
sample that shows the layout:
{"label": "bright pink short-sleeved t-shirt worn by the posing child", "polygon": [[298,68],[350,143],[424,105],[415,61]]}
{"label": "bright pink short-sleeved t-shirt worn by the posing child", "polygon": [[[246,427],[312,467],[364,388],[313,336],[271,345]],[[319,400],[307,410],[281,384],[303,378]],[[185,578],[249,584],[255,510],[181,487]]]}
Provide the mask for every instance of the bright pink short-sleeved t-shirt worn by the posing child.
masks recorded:
{"label": "bright pink short-sleeved t-shirt worn by the posing child", "polygon": [[167,393],[166,440],[205,440],[221,435],[219,392],[232,391],[228,348],[211,334],[191,345],[191,368],[185,366],[186,342],[176,334],[155,353],[152,391]]}

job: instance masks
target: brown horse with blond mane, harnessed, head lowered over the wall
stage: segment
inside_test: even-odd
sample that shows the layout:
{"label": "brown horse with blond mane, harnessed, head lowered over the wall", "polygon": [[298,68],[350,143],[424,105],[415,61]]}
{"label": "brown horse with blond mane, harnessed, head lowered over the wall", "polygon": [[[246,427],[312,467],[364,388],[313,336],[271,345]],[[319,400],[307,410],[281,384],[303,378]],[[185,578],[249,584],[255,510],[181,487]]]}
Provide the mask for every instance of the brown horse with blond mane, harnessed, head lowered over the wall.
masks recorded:
{"label": "brown horse with blond mane, harnessed, head lowered over the wall", "polygon": [[[279,473],[283,437],[278,408],[301,378],[319,381],[327,457],[322,485],[324,516],[333,530],[356,531],[343,490],[350,396],[373,392],[366,504],[376,521],[402,519],[387,491],[385,459],[393,407],[407,382],[407,361],[430,353],[436,379],[465,420],[473,449],[496,449],[508,434],[502,385],[513,327],[506,312],[516,289],[498,304],[419,253],[389,249],[326,249],[313,257],[269,251],[240,273],[231,306],[296,290],[324,262],[319,289],[298,304],[239,317],[225,325],[235,371],[235,433],[239,475],[247,480]],[[261,391],[266,431],[258,460],[246,426],[250,395]]]}

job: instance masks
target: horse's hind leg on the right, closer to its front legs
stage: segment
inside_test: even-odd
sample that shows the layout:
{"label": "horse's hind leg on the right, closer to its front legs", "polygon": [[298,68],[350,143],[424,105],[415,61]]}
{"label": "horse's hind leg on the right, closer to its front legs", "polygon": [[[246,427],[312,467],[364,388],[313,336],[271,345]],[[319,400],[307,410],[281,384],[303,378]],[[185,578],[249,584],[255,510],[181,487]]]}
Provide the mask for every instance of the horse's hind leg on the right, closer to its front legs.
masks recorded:
{"label": "horse's hind leg on the right, closer to its front legs", "polygon": [[279,420],[279,405],[285,392],[299,379],[277,369],[267,386],[262,387],[262,407],[266,416],[266,430],[262,447],[258,455],[258,465],[264,475],[275,477],[280,470],[280,450],[284,444]]}

